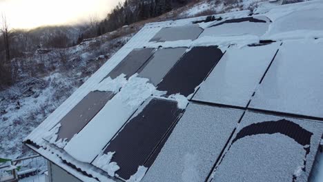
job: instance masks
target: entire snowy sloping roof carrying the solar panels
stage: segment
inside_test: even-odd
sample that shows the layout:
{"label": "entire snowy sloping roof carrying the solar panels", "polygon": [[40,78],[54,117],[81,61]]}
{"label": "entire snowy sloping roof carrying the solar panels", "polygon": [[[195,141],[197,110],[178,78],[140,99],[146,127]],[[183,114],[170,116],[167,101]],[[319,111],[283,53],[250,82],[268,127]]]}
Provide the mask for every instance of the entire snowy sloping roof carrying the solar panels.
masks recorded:
{"label": "entire snowy sloping roof carrying the solar panels", "polygon": [[322,10],[148,23],[24,142],[82,181],[307,181]]}

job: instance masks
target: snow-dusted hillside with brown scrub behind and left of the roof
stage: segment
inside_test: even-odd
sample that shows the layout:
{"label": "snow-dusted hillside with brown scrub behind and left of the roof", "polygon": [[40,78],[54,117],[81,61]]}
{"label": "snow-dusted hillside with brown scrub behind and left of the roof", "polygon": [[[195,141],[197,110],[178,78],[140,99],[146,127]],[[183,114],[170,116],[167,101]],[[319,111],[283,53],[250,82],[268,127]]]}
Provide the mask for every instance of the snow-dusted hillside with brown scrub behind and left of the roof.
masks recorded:
{"label": "snow-dusted hillside with brown scrub behind and left of the roof", "polygon": [[[232,2],[217,0],[190,3],[184,8],[162,15],[160,19],[253,10],[258,6],[276,6],[282,3],[268,3],[264,0]],[[149,21],[156,19],[146,22]],[[108,33],[75,47],[39,49],[28,57],[14,59],[14,63],[19,65],[16,72],[20,81],[11,88],[0,91],[0,158],[14,159],[32,154],[21,143],[23,138],[119,50],[141,26],[142,22],[135,23],[133,30],[118,36]],[[72,31],[70,36],[75,36],[75,32],[77,30]],[[114,39],[115,37],[117,38]]]}

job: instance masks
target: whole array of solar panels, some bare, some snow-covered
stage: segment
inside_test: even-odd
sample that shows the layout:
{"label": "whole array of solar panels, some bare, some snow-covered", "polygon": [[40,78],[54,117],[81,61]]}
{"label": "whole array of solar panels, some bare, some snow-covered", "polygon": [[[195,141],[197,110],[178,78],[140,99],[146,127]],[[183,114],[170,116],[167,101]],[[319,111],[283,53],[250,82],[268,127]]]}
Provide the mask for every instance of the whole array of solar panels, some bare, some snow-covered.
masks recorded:
{"label": "whole array of solar panels, some bare, some snow-covered", "polygon": [[126,85],[90,92],[61,119],[57,141],[82,163],[115,152],[121,180],[144,166],[143,181],[307,181],[323,132],[322,41],[181,43],[262,36],[271,23],[255,16],[160,28],[147,45],[175,46],[131,50],[104,79],[148,79],[164,94],[125,106],[134,97]]}

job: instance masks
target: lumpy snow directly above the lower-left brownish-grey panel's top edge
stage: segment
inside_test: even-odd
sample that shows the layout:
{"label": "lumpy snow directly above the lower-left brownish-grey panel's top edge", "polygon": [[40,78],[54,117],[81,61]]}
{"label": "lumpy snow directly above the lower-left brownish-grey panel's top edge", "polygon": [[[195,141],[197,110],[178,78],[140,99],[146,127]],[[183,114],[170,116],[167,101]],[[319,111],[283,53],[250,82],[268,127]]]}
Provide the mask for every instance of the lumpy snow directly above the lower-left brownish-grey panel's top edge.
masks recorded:
{"label": "lumpy snow directly above the lower-left brownish-grey panel's top edge", "polygon": [[110,77],[104,79],[97,85],[92,91],[111,91],[114,93],[119,92],[120,88],[123,87],[127,83],[126,74],[120,74],[117,78],[111,79]]}

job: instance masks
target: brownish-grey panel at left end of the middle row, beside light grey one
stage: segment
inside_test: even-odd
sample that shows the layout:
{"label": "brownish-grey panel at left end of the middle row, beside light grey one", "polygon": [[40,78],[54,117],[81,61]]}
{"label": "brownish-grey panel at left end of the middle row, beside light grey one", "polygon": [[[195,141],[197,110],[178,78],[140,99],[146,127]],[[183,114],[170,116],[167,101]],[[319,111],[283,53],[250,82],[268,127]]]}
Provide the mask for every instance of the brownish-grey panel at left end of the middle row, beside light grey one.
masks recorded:
{"label": "brownish-grey panel at left end of the middle row, beside light grey one", "polygon": [[128,79],[141,68],[144,63],[154,54],[154,48],[134,49],[119,63],[104,79],[115,79],[120,74],[126,74]]}

